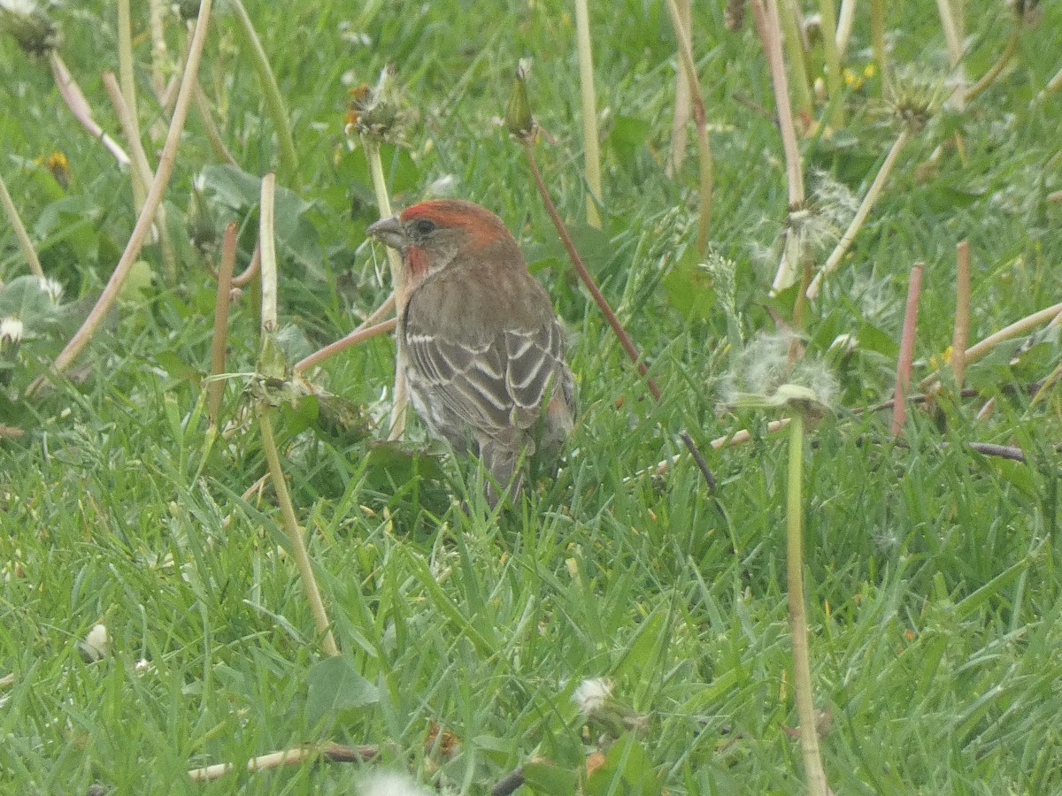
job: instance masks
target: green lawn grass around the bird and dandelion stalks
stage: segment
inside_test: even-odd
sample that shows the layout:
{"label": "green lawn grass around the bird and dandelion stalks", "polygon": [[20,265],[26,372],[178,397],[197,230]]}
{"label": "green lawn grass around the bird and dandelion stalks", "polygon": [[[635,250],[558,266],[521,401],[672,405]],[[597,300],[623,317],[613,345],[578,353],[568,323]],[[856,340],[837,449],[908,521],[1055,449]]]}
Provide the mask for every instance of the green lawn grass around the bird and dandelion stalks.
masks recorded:
{"label": "green lawn grass around the bird and dandelion stalks", "polygon": [[[224,445],[205,444],[199,379],[209,362],[213,282],[182,224],[192,178],[215,160],[192,114],[167,197],[179,284],[156,279],[131,296],[79,362],[76,379],[30,402],[16,398],[19,388],[65,338],[28,341],[0,396],[0,422],[27,431],[0,442],[0,677],[15,676],[0,690],[0,791],[84,793],[99,782],[113,793],[349,793],[344,764],[213,784],[186,779],[189,768],[242,765],[330,739],[379,744],[388,766],[408,766],[447,793],[486,793],[533,756],[582,766],[597,731],[584,732],[570,695],[581,679],[607,676],[617,699],[648,715],[639,736],[646,765],[669,793],[799,792],[800,751],[782,730],[796,724],[785,440],[757,436],[709,450],[718,506],[685,455],[664,479],[628,481],[684,452],[683,429],[706,448],[715,436],[763,427],[761,417],[718,409],[719,379],[740,336],[772,329],[765,307],[776,259],[756,252],[785,219],[776,129],[735,99],[773,107],[751,23],[727,33],[717,4],[695,13],[714,125],[710,237],[736,262],[739,319],[729,325],[723,285],[681,271],[669,277],[691,257],[683,253],[696,230],[697,166],[691,146],[680,178],[663,175],[675,69],[666,10],[633,1],[593,10],[599,107],[607,108],[605,229],[576,224],[575,232],[651,362],[665,395],[654,404],[569,278],[518,145],[492,122],[516,59],[532,56],[532,106],[556,138],[539,143],[539,161],[562,213],[581,219],[567,6],[247,5],[295,132],[301,172],[288,187],[310,204],[302,226],[281,235],[281,323],[298,331],[289,350],[339,338],[386,295],[376,276],[386,272],[382,253],[363,244],[375,218],[372,188],[360,151],[344,143],[342,77],[372,84],[393,63],[416,110],[408,149],[388,150],[384,160],[396,204],[452,175],[459,195],[516,231],[572,334],[581,412],[570,457],[555,481],[529,489],[525,504],[495,521],[466,516],[448,497],[482,508],[467,463],[416,458],[429,477],[413,482],[409,460],[372,452],[364,435],[299,431],[305,418],[284,416],[282,461],[345,668],[375,696],[322,710],[323,677],[335,670],[321,668],[272,491],[240,497],[264,461],[236,382],[224,411],[237,430]],[[976,77],[1001,51],[1009,23],[1001,3],[971,5],[967,73]],[[811,667],[818,706],[833,711],[822,748],[837,793],[1062,790],[1060,403],[1055,393],[1030,409],[1029,396],[1000,391],[1049,374],[1060,360],[1057,335],[1038,336],[1016,364],[1011,350],[971,367],[982,399],[945,400],[935,414],[912,410],[906,447],[883,444],[884,413],[849,412],[891,393],[915,260],[926,263],[915,378],[950,343],[960,239],[973,252],[972,342],[1060,300],[1062,207],[1047,194],[1062,188],[1062,96],[1029,106],[1062,65],[1062,11],[1044,5],[999,81],[908,144],[853,256],[811,311],[808,356],[832,357],[842,387],[842,408],[811,431],[805,462]],[[65,59],[103,127],[117,131],[98,77],[117,63],[113,8],[68,3],[56,16]],[[372,44],[344,39],[345,21]],[[893,64],[939,76],[946,53],[933,5],[890,6],[888,22]],[[135,21],[134,35],[142,31]],[[854,36],[850,60],[861,69],[866,19]],[[47,65],[2,41],[0,171],[46,273],[68,300],[91,297],[134,223],[127,175],[75,126]],[[276,142],[238,41],[234,20],[219,16],[201,80],[240,167],[260,174],[275,165]],[[137,45],[141,65],[147,48]],[[144,129],[154,118],[148,83],[141,71]],[[849,129],[803,142],[809,171],[857,195],[893,135],[876,94],[870,79],[849,99]],[[961,152],[949,144],[955,132]],[[938,144],[936,170],[917,176]],[[28,166],[56,150],[70,161],[68,191]],[[219,231],[230,219],[247,227],[242,267],[257,215],[251,203],[233,210],[207,196]],[[158,247],[142,257],[157,277]],[[4,224],[0,279],[21,273]],[[684,314],[676,306],[689,295],[712,310]],[[233,308],[233,371],[254,366],[254,301],[247,291]],[[856,334],[859,347],[827,354],[841,333]],[[392,350],[390,341],[373,341],[327,362],[320,382],[383,417]],[[991,395],[995,411],[976,420]],[[979,456],[964,447],[971,440],[1017,445],[1030,462]],[[98,622],[112,654],[86,663],[78,644]],[[459,739],[456,755],[426,749],[433,725]],[[645,781],[629,788],[599,792],[653,792]]]}

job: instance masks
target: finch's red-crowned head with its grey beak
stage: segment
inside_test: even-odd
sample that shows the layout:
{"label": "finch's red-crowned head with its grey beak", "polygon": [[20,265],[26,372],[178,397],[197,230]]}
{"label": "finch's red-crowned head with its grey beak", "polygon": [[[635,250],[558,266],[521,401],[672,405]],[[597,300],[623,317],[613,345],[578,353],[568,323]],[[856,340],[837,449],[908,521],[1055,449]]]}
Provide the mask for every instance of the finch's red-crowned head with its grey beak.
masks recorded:
{"label": "finch's red-crowned head with its grey beak", "polygon": [[401,253],[409,287],[451,264],[475,264],[487,259],[484,249],[491,246],[511,246],[517,256],[519,252],[501,219],[463,200],[419,202],[397,215],[381,219],[365,231]]}

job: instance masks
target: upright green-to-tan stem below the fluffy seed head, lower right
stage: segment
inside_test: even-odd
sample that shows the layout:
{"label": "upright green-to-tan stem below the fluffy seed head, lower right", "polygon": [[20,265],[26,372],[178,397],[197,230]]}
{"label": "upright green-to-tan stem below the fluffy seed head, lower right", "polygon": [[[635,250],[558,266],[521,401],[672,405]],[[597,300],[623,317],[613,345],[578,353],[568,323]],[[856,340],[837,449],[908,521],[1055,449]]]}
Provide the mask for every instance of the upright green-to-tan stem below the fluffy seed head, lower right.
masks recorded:
{"label": "upright green-to-tan stem below the fluffy seed head, lower right", "polygon": [[793,691],[800,717],[801,751],[810,796],[826,796],[826,773],[819,754],[811,663],[808,653],[807,612],[804,601],[804,502],[801,482],[804,467],[804,417],[798,412],[789,421],[789,483],[786,491],[786,588],[789,599],[789,630],[793,651]]}

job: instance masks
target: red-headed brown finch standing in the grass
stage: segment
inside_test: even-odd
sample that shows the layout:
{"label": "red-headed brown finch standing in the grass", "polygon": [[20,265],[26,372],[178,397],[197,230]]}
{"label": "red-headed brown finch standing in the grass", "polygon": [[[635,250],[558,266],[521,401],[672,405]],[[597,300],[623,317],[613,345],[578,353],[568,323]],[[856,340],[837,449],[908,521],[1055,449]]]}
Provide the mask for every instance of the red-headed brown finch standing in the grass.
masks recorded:
{"label": "red-headed brown finch standing in the grass", "polygon": [[421,202],[367,231],[401,253],[398,366],[413,406],[434,436],[478,453],[492,506],[507,486],[515,498],[520,455],[556,453],[575,420],[549,295],[501,220],[472,202]]}

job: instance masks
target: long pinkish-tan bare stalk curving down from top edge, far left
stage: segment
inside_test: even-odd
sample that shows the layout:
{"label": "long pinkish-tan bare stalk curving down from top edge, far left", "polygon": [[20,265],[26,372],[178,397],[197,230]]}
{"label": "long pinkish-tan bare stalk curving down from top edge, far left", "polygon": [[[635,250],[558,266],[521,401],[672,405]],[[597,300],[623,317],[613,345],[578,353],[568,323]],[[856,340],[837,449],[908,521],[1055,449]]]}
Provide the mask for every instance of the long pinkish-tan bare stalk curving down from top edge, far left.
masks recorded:
{"label": "long pinkish-tan bare stalk curving down from top edge, far left", "polygon": [[[55,362],[52,363],[51,374],[53,376],[64,373],[68,367],[70,367],[71,364],[73,364],[74,360],[78,359],[81,352],[85,349],[85,346],[87,346],[88,342],[92,339],[96,330],[99,329],[100,324],[103,323],[103,318],[107,314],[107,311],[110,309],[112,305],[114,305],[115,299],[118,298],[118,293],[121,290],[122,283],[125,281],[125,277],[129,276],[129,272],[133,267],[133,263],[136,262],[137,255],[140,253],[140,247],[143,245],[144,237],[151,228],[152,219],[162,201],[162,194],[166,192],[166,187],[170,181],[170,175],[173,173],[173,165],[177,155],[177,145],[181,142],[181,133],[184,129],[185,119],[188,117],[188,106],[191,103],[193,87],[196,82],[196,75],[199,74],[200,59],[203,55],[203,47],[206,44],[206,34],[210,22],[210,10],[212,4],[213,0],[202,0],[200,3],[199,17],[195,20],[195,30],[192,33],[191,42],[189,44],[185,72],[181,79],[181,90],[177,93],[177,104],[174,107],[173,118],[170,120],[170,128],[166,134],[166,143],[162,145],[162,154],[158,158],[158,170],[155,172],[155,178],[152,180],[151,189],[148,191],[148,197],[144,201],[143,209],[137,218],[136,226],[133,227],[133,232],[130,236],[129,243],[125,244],[125,250],[122,252],[122,256],[118,260],[118,264],[115,266],[115,272],[110,275],[110,279],[103,289],[103,294],[96,302],[96,306],[88,314],[88,317],[85,318],[85,323],[82,324],[81,328],[76,331],[76,333],[74,333],[73,338],[70,339],[70,342],[67,343],[66,347],[59,351],[58,357],[55,358]],[[125,159],[126,162],[129,162],[129,156],[126,156]],[[32,395],[40,388],[41,384],[44,384],[44,377],[36,379],[27,392]]]}

